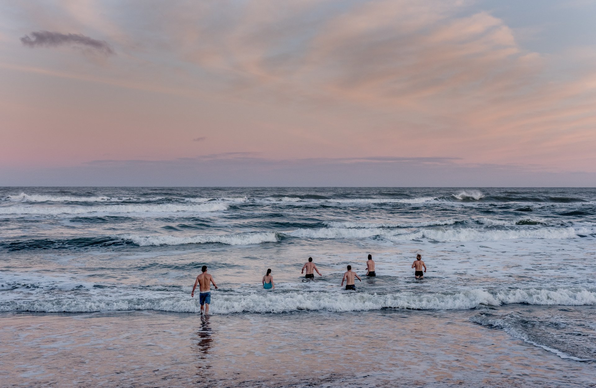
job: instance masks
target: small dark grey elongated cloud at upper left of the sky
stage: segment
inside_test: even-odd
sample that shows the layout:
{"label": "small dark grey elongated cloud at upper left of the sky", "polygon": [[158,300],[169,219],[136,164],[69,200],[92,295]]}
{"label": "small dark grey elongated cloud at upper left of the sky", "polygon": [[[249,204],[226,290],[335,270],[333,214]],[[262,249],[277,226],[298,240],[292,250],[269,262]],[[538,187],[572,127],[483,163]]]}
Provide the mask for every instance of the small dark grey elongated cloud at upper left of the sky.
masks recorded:
{"label": "small dark grey elongated cloud at upper left of the sky", "polygon": [[83,46],[104,55],[115,54],[114,50],[105,41],[89,38],[81,34],[63,34],[51,31],[34,31],[21,38],[21,42],[29,47],[57,47],[62,45]]}

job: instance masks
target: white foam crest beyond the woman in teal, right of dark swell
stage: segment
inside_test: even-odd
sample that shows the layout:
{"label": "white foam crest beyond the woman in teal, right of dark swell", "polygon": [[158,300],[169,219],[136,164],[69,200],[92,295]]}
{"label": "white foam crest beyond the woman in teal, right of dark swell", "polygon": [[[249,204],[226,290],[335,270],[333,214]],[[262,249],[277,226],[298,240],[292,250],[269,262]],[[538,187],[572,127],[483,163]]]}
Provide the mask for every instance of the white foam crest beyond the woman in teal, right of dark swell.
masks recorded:
{"label": "white foam crest beyond the woman in teal, right of dark swell", "polygon": [[183,245],[221,243],[227,245],[250,245],[260,243],[275,243],[275,232],[249,232],[223,235],[196,235],[192,237],[177,237],[171,235],[139,236],[133,234],[118,235],[117,238],[129,240],[139,246]]}

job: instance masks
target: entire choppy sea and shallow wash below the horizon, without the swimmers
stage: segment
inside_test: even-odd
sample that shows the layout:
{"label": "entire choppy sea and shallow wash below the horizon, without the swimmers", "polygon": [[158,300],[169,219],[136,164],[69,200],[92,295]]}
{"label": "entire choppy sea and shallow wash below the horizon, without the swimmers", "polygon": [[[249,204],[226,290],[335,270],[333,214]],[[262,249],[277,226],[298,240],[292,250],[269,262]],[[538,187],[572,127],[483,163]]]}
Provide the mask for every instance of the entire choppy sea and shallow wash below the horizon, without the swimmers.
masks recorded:
{"label": "entire choppy sea and shallow wash below the horizon, without the swimmers", "polygon": [[2,387],[596,387],[596,189],[1,187],[0,324]]}

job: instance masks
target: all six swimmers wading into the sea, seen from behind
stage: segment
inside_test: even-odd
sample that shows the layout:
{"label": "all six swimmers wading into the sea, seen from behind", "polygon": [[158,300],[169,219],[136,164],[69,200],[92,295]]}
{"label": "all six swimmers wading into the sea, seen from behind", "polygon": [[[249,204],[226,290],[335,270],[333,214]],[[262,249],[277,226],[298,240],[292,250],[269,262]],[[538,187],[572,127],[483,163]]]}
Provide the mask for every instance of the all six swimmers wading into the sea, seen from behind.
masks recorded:
{"label": "all six swimmers wading into the sea, seen from behind", "polygon": [[[414,260],[414,262],[412,263],[412,268],[415,268],[415,272],[414,272],[415,278],[424,279],[424,272],[426,272],[426,265],[422,261],[422,256],[420,256],[420,254],[416,255],[416,260]],[[424,268],[424,271],[422,270],[423,268]],[[306,269],[306,275],[305,275],[306,279],[315,278],[315,271],[317,274],[319,274],[319,276],[322,276],[321,272],[319,272],[319,269],[316,268],[316,264],[312,262],[312,257],[308,258],[308,262],[306,262],[302,266],[302,272],[300,272],[300,273],[304,274],[305,269]],[[377,272],[375,272],[375,262],[374,262],[373,256],[371,254],[368,255],[366,276],[368,276],[368,277],[377,276]],[[346,282],[346,290],[356,291],[356,284],[354,283],[354,278],[357,278],[359,281],[362,281],[362,279],[358,276],[358,274],[356,274],[356,272],[352,271],[352,266],[348,265],[347,271],[344,272],[344,274],[343,274],[341,286],[343,287],[343,282],[345,281]],[[271,275],[271,268],[267,269],[267,273],[265,274],[265,276],[263,276],[262,283],[263,283],[263,288],[265,288],[265,290],[271,290],[272,288],[275,288],[275,283],[273,283],[273,275]],[[194,290],[197,288],[197,284],[199,285],[198,290],[199,290],[199,303],[201,304],[201,314],[203,314],[203,306],[205,306],[204,307],[205,313],[208,314],[209,313],[209,304],[211,303],[211,284],[213,284],[213,286],[216,289],[218,288],[218,285],[215,284],[215,281],[213,281],[213,277],[211,276],[211,274],[207,274],[207,266],[206,265],[204,265],[201,268],[201,274],[197,276],[197,279],[194,282],[193,291],[190,294],[191,297],[194,297]]]}

